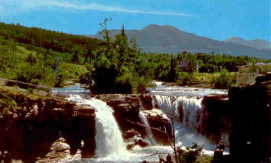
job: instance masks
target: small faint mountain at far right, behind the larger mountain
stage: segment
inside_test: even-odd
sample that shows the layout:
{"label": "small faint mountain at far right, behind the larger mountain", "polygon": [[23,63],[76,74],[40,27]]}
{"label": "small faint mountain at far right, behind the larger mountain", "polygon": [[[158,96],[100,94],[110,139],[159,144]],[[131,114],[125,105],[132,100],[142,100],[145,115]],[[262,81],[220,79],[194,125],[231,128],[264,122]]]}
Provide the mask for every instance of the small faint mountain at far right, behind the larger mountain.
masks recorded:
{"label": "small faint mountain at far right, behind the larger mountain", "polygon": [[271,42],[267,40],[255,39],[255,40],[245,40],[239,37],[231,37],[226,39],[224,42],[240,44],[248,47],[253,47],[257,49],[271,49]]}

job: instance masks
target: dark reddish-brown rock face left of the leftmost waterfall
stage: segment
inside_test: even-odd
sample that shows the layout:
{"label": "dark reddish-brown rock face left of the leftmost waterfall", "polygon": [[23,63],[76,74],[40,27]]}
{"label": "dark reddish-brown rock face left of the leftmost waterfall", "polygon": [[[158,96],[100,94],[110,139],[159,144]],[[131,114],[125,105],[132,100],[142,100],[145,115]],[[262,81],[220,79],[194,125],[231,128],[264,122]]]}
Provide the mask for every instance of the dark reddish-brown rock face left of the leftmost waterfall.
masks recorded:
{"label": "dark reddish-brown rock face left of the leftmost waterfall", "polygon": [[93,155],[92,108],[61,99],[9,96],[16,101],[17,110],[0,118],[0,151],[8,151],[12,159],[23,162],[57,162],[66,154],[75,155],[78,149],[82,157]]}

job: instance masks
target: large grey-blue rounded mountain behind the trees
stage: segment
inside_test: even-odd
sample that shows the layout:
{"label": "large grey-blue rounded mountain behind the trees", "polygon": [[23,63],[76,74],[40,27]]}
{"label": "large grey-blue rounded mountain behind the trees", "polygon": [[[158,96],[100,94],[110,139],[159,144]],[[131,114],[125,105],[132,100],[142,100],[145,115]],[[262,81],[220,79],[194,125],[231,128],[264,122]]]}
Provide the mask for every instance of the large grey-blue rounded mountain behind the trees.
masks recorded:
{"label": "large grey-blue rounded mountain behind the trees", "polygon": [[[110,30],[114,36],[120,30]],[[201,37],[192,33],[181,31],[173,26],[148,25],[141,30],[126,30],[128,38],[135,37],[138,46],[144,52],[153,53],[226,53],[232,55],[248,55],[260,58],[271,58],[271,50],[258,49],[232,42],[217,41],[207,37]],[[102,39],[100,34],[89,35]]]}

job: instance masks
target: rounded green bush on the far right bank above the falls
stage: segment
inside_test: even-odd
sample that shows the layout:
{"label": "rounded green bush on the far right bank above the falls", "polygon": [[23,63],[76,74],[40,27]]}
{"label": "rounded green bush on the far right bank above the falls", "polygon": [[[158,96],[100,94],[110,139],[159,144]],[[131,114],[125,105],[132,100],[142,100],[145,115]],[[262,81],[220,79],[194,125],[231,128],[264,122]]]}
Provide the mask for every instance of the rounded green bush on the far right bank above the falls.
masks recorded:
{"label": "rounded green bush on the far right bank above the falls", "polygon": [[230,74],[226,69],[222,69],[219,76],[213,76],[210,84],[216,89],[227,89],[229,86],[235,84],[236,75]]}

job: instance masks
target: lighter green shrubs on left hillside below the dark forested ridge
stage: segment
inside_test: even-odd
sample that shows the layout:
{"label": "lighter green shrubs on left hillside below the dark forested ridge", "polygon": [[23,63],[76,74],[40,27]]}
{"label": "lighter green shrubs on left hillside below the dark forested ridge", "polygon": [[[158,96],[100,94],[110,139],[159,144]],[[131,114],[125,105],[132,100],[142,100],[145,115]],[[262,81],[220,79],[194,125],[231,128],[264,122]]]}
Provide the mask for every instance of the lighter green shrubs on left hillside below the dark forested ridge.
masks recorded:
{"label": "lighter green shrubs on left hillside below the dark forested ridge", "polygon": [[0,77],[59,87],[63,86],[66,79],[78,78],[86,72],[81,65],[65,62],[65,54],[39,49],[29,51],[13,41],[1,40]]}

